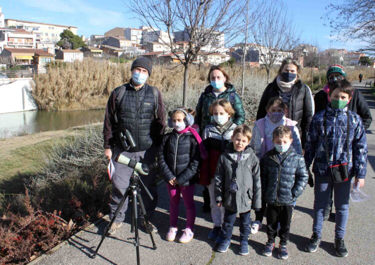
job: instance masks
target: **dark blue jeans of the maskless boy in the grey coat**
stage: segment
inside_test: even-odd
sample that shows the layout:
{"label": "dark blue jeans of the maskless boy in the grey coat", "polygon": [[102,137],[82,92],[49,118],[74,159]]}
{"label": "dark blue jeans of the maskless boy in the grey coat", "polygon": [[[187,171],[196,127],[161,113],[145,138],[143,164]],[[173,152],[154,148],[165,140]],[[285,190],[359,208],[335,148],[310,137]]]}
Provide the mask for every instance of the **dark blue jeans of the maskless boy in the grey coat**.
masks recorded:
{"label": "dark blue jeans of the maskless boy in the grey coat", "polygon": [[[224,223],[220,234],[219,242],[222,240],[229,240],[232,237],[233,224],[237,213],[228,209],[224,211]],[[239,213],[239,240],[240,243],[247,243],[248,235],[250,234],[250,211]]]}

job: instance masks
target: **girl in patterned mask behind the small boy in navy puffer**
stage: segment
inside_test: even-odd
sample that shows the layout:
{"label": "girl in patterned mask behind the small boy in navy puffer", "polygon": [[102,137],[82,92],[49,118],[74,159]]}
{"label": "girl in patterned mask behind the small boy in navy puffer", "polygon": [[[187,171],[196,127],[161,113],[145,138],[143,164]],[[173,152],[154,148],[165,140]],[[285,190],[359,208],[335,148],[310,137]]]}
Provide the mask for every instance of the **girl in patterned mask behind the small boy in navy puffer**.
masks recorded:
{"label": "girl in patterned mask behind the small boy in navy puffer", "polygon": [[[254,122],[252,129],[252,138],[250,147],[254,150],[255,155],[260,160],[266,152],[275,147],[272,142],[272,133],[279,125],[289,127],[292,132],[291,145],[294,147],[297,154],[302,154],[301,139],[297,122],[285,117],[287,106],[280,97],[272,97],[268,100],[265,107],[265,117],[258,119]],[[277,146],[279,150],[288,146]],[[255,212],[255,220],[251,223],[250,233],[256,233],[261,228],[261,222],[265,211],[265,202],[262,201],[262,207],[259,211]]]}

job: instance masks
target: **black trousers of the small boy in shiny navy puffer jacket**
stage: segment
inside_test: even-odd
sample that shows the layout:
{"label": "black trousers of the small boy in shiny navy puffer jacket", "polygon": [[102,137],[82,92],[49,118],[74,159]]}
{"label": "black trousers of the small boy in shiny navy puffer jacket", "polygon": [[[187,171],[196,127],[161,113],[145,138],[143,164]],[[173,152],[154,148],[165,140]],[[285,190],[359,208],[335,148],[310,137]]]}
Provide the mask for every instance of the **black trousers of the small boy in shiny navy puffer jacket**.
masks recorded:
{"label": "black trousers of the small boy in shiny navy puffer jacket", "polygon": [[277,235],[277,224],[280,223],[280,230],[278,231],[280,245],[286,245],[287,241],[289,240],[289,229],[293,205],[275,206],[267,204],[266,211],[268,242],[274,243]]}

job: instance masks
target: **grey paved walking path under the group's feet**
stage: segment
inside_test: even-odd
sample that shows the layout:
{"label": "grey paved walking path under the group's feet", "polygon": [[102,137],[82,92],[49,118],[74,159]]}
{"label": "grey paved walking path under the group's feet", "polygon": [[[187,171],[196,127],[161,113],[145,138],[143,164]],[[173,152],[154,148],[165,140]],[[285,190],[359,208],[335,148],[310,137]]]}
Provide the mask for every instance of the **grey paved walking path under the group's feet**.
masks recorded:
{"label": "grey paved walking path under the group's feet", "polygon": [[[364,88],[365,82],[354,82],[354,85],[365,94],[371,108],[371,114],[375,117],[375,96],[369,94],[369,89]],[[375,190],[375,123],[367,130],[368,164],[365,178],[364,191],[374,195]],[[345,242],[348,248],[348,256],[340,258],[335,255],[334,222],[325,221],[322,233],[322,243],[314,253],[305,252],[304,246],[311,236],[313,190],[306,187],[298,198],[291,222],[290,242],[288,244],[289,258],[279,260],[276,251],[273,256],[261,255],[263,244],[266,242],[265,227],[249,240],[250,253],[247,256],[238,255],[239,230],[234,228],[232,243],[226,253],[212,251],[213,242],[207,239],[211,230],[211,217],[209,213],[201,213],[202,206],[201,187],[196,188],[197,218],[195,221],[194,239],[187,244],[167,242],[165,234],[168,229],[168,196],[165,185],[158,187],[159,201],[154,216],[154,224],[158,227],[155,234],[157,249],[153,250],[148,234],[140,232],[140,257],[142,264],[273,264],[283,262],[288,264],[375,264],[375,198],[362,203],[351,203],[349,208],[349,221]],[[180,208],[178,228],[184,228],[184,210]],[[252,213],[253,215],[253,213]],[[265,218],[263,223],[265,222]],[[67,244],[58,248],[55,252],[46,255],[37,264],[134,264],[136,263],[135,247],[128,237],[130,233],[129,220],[122,225],[115,236],[107,237],[95,259],[89,255],[96,248],[100,234],[106,222],[100,222],[91,230],[67,240]],[[177,234],[181,234],[180,230]]]}

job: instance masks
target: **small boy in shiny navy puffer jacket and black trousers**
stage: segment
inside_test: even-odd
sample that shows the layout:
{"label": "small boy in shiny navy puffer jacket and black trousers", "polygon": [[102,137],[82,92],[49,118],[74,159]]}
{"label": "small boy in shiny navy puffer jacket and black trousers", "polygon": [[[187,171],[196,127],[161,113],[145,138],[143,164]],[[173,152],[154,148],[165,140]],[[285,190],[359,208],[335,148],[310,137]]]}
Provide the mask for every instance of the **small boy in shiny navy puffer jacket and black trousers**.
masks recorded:
{"label": "small boy in shiny navy puffer jacket and black trousers", "polygon": [[292,133],[288,126],[279,125],[272,132],[274,148],[261,159],[262,200],[267,203],[267,236],[263,255],[271,256],[280,223],[278,257],[286,259],[293,202],[302,194],[308,174],[303,156],[293,146]]}

